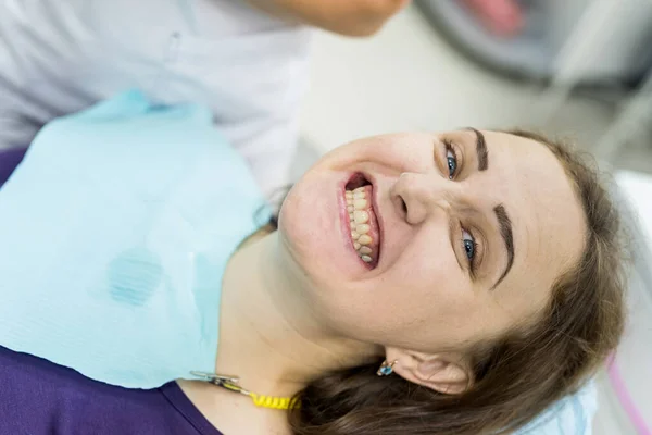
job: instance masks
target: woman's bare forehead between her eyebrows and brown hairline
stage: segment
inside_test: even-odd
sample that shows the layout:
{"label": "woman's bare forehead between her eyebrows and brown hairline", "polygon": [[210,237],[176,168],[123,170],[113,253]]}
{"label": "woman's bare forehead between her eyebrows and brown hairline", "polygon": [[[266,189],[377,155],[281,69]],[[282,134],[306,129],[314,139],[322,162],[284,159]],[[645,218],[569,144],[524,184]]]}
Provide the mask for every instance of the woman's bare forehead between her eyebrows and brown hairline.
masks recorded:
{"label": "woman's bare forehead between her eyebrows and brown hairline", "polygon": [[500,192],[497,200],[510,213],[514,233],[514,265],[496,295],[511,311],[538,308],[554,281],[581,256],[584,211],[547,146],[505,133],[484,134],[489,151],[485,183]]}

